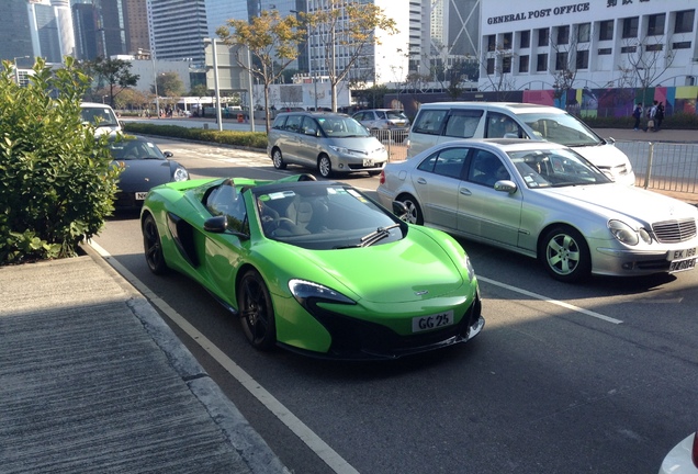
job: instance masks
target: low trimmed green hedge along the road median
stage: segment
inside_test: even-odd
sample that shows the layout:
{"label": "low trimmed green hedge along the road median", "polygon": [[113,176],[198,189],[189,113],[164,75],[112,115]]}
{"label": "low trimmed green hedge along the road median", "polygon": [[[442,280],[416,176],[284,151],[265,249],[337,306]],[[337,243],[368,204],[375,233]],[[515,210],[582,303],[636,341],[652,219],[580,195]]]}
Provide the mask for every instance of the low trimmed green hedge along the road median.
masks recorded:
{"label": "low trimmed green hedge along the road median", "polygon": [[207,142],[222,145],[235,145],[246,148],[267,148],[266,132],[234,132],[205,128],[188,128],[177,125],[157,125],[139,122],[126,122],[124,131],[133,134],[169,136],[194,142]]}

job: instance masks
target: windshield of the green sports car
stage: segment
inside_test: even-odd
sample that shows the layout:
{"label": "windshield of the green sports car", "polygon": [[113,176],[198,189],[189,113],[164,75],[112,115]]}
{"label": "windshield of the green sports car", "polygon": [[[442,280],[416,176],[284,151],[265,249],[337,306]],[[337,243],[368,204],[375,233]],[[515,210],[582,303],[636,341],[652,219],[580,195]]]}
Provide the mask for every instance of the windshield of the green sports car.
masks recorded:
{"label": "windshield of the green sports car", "polygon": [[368,247],[399,240],[404,223],[341,184],[272,184],[254,190],[268,238],[307,249]]}

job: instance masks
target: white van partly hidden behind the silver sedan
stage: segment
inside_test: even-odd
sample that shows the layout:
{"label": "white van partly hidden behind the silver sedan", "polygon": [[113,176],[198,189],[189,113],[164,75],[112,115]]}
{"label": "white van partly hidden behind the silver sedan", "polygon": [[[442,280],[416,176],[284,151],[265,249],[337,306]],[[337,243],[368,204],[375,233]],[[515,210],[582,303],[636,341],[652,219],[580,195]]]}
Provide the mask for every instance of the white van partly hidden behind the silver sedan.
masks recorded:
{"label": "white van partly hidden behind the silver sedan", "polygon": [[567,112],[548,105],[509,102],[423,104],[409,131],[407,157],[461,138],[527,138],[572,147],[610,179],[635,184],[630,160],[612,143]]}

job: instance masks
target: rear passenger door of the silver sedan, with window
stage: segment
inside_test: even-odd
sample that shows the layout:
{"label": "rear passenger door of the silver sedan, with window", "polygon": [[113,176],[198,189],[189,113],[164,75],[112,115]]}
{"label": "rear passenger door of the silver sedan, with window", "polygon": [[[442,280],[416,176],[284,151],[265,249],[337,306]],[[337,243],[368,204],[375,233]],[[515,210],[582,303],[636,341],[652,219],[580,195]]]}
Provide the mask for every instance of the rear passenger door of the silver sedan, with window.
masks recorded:
{"label": "rear passenger door of the silver sedan, with window", "polygon": [[425,223],[444,230],[455,230],[458,187],[469,148],[442,148],[419,163],[412,176]]}

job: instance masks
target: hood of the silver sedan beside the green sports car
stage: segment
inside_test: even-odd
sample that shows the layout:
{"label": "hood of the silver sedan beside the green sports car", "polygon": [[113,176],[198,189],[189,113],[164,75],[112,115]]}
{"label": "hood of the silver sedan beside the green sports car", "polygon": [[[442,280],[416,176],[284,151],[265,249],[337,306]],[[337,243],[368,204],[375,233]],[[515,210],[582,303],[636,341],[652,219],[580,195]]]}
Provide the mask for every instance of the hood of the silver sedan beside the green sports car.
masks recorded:
{"label": "hood of the silver sedan beside the green sports car", "polygon": [[549,188],[544,192],[607,218],[618,218],[620,213],[644,225],[674,218],[698,217],[698,210],[690,204],[623,184]]}

